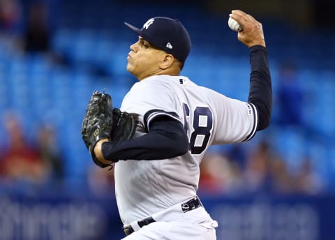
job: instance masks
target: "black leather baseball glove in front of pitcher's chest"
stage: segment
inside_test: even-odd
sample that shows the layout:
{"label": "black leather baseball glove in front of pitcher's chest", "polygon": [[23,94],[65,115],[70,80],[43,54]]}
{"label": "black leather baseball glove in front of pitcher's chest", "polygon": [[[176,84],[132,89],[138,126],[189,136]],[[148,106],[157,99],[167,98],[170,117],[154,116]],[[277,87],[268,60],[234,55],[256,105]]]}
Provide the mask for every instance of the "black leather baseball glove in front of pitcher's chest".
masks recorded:
{"label": "black leather baseball glove in front of pitcher's chest", "polygon": [[112,107],[112,98],[107,93],[94,91],[82,121],[82,139],[91,153],[94,163],[107,167],[94,154],[96,143],[102,139],[129,140],[133,138],[137,115],[121,112]]}

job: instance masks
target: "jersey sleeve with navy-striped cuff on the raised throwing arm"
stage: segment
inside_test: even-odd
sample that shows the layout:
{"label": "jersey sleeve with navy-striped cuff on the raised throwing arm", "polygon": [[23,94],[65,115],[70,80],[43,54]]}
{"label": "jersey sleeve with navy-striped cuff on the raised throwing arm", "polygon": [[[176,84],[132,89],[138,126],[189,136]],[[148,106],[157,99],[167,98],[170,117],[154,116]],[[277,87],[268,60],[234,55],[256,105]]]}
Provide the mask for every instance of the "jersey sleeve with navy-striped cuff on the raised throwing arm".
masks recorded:
{"label": "jersey sleeve with navy-striped cuff on the raised throwing arm", "polygon": [[216,128],[212,144],[246,142],[255,135],[258,126],[258,112],[252,103],[228,98],[214,91],[212,107],[216,115]]}

